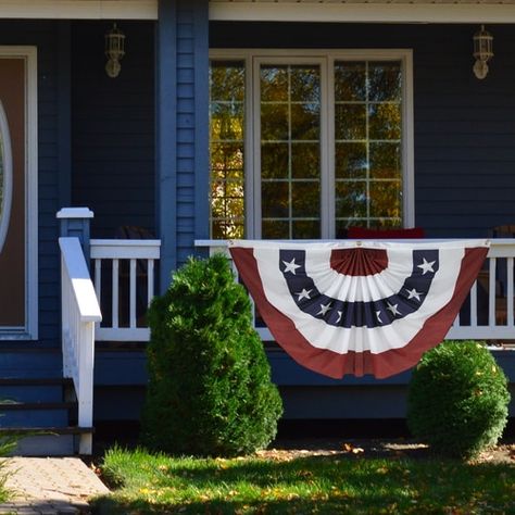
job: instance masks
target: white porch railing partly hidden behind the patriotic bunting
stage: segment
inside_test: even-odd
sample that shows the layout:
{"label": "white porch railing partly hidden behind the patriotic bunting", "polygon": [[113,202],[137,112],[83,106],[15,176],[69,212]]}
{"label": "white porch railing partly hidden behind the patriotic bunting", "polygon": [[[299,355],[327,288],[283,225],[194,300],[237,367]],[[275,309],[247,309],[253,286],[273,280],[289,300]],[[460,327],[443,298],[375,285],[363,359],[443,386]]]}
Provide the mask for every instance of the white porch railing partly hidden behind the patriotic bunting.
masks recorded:
{"label": "white porch railing partly hidden behind the patriotic bunting", "polygon": [[[402,240],[406,242],[406,240]],[[423,240],[412,240],[423,241]],[[427,240],[443,241],[443,240]],[[514,258],[515,239],[492,239],[486,265],[474,284],[460,316],[449,330],[449,339],[515,340]],[[210,254],[229,255],[224,240],[197,240],[198,248],[209,248]],[[236,269],[235,269],[236,273]],[[264,341],[272,341],[269,330],[256,323]]]}

